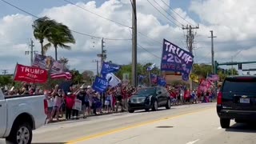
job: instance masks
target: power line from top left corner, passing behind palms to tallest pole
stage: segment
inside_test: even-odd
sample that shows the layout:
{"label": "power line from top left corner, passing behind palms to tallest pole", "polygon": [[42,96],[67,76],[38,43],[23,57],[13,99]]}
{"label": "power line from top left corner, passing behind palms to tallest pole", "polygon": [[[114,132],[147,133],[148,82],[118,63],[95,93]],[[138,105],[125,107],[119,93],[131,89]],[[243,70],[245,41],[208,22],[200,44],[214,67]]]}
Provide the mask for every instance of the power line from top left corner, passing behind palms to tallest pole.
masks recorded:
{"label": "power line from top left corner, passing behind palms to tallest pole", "polygon": [[[21,8],[19,8],[18,6],[14,6],[13,4],[11,4],[10,2],[6,2],[5,0],[1,0],[2,2],[5,2],[6,4],[10,5],[10,6],[13,6],[14,8],[18,9],[18,10],[21,10],[22,12],[26,13],[26,14],[29,14],[31,16],[33,16],[34,18],[39,18],[38,16],[34,15],[34,14],[31,14],[30,12],[27,12],[26,10],[22,10]],[[84,34],[84,33],[81,33],[81,32],[78,32],[76,30],[70,30],[74,33],[77,33],[77,34],[82,34],[82,35],[86,35],[88,37],[93,37],[93,38],[102,38],[102,37],[99,37],[99,36],[94,36],[94,35],[90,35],[90,34]],[[131,39],[127,39],[127,38],[105,38],[107,40],[114,40],[114,41],[117,41],[117,40],[123,40],[123,41],[126,41],[126,40],[131,40]]]}

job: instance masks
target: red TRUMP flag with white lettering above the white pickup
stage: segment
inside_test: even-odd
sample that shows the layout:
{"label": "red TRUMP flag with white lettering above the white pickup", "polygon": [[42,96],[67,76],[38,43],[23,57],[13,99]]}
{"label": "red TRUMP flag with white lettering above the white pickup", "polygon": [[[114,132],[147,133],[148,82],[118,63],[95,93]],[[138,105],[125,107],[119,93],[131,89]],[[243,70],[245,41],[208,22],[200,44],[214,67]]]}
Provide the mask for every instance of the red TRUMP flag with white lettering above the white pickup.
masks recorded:
{"label": "red TRUMP flag with white lettering above the white pickup", "polygon": [[47,70],[33,66],[16,65],[14,81],[44,83],[47,81]]}

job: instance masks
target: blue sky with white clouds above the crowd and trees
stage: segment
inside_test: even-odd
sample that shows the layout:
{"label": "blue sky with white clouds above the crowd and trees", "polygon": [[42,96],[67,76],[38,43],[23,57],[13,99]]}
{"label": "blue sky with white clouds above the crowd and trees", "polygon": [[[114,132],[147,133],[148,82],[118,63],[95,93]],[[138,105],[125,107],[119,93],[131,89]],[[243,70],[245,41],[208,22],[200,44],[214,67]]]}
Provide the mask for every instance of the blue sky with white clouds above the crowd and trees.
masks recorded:
{"label": "blue sky with white clouds above the crowd and trees", "polygon": [[[120,65],[131,62],[130,0],[6,0],[6,2],[36,17],[47,16],[69,26],[71,30],[99,37],[92,38],[73,33],[76,44],[70,45],[71,50],[58,49],[58,58],[68,58],[71,69],[96,72],[96,63],[92,61],[99,60],[97,54],[101,52],[101,38],[106,38],[107,61]],[[254,61],[255,6],[256,2],[251,0],[137,0],[138,62],[154,62],[159,66],[163,38],[187,50],[186,30],[182,30],[182,25],[190,24],[199,26],[198,30],[194,30],[194,62],[210,64],[211,42],[208,38],[210,30],[214,30],[214,35],[217,36],[214,38],[215,60]],[[2,0],[0,7],[0,64],[2,65],[0,69],[13,73],[17,62],[30,65],[30,55],[25,54],[26,50],[30,50],[30,38],[34,41],[34,50],[40,53],[40,44],[34,38],[32,29],[36,18]],[[54,49],[50,49],[46,54],[54,57]],[[248,64],[243,65],[243,68],[249,69],[254,66],[256,64]]]}

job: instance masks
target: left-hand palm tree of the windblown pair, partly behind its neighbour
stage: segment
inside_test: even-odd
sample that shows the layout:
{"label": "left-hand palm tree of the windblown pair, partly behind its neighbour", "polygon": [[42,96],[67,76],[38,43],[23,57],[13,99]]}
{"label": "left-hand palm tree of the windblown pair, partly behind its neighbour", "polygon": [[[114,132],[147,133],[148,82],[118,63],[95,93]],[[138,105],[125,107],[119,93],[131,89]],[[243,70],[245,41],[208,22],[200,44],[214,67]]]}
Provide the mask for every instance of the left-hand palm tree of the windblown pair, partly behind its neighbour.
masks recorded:
{"label": "left-hand palm tree of the windblown pair, partly behind its neighbour", "polygon": [[34,38],[38,39],[41,43],[42,55],[45,54],[45,50],[49,47],[49,44],[43,46],[44,39],[50,37],[51,30],[53,30],[56,25],[57,22],[47,17],[38,18],[33,22],[32,27],[34,29]]}

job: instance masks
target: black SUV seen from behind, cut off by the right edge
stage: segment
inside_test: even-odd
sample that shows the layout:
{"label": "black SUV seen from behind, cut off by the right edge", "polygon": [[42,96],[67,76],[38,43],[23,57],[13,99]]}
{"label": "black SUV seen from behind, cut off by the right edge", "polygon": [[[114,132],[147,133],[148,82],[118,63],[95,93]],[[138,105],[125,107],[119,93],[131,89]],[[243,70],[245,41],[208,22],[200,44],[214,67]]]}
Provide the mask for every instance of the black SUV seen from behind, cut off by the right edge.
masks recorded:
{"label": "black SUV seen from behind, cut off by the right edge", "polygon": [[256,120],[256,77],[236,76],[226,78],[218,93],[217,113],[222,128],[235,122]]}

